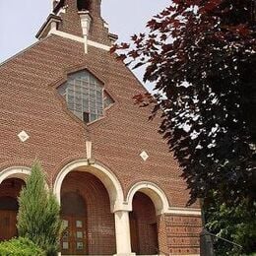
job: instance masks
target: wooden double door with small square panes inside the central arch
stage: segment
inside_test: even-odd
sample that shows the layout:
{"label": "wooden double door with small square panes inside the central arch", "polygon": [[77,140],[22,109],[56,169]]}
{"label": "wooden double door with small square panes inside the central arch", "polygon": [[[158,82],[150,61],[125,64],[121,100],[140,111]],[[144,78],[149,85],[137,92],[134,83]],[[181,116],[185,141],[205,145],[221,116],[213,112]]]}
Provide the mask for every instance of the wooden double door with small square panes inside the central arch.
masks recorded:
{"label": "wooden double door with small square panes inside the central arch", "polygon": [[87,223],[81,217],[63,217],[65,231],[61,239],[63,255],[88,254]]}

